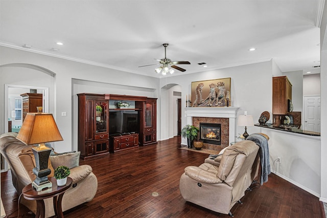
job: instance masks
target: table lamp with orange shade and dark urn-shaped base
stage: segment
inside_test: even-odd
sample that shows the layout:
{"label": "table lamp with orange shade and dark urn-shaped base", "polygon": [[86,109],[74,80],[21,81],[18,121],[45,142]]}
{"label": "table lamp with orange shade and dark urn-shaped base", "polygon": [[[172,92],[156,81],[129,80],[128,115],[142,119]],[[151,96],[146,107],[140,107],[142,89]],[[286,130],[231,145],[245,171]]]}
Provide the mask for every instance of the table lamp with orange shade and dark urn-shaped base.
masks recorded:
{"label": "table lamp with orange shade and dark urn-shaped base", "polygon": [[52,114],[28,113],[17,139],[26,145],[38,144],[32,148],[36,165],[33,168],[36,179],[32,182],[32,186],[37,191],[52,187],[52,183],[48,180],[48,175],[51,173],[51,169],[48,168],[51,148],[46,147],[44,143],[63,140]]}

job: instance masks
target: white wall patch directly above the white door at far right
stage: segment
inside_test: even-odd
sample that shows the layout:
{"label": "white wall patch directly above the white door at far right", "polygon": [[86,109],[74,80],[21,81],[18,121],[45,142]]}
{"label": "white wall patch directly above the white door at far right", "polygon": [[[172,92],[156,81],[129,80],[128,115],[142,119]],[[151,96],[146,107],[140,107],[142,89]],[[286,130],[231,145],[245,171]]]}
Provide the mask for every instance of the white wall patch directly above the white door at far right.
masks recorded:
{"label": "white wall patch directly above the white door at far right", "polygon": [[320,74],[303,75],[303,96],[320,95]]}

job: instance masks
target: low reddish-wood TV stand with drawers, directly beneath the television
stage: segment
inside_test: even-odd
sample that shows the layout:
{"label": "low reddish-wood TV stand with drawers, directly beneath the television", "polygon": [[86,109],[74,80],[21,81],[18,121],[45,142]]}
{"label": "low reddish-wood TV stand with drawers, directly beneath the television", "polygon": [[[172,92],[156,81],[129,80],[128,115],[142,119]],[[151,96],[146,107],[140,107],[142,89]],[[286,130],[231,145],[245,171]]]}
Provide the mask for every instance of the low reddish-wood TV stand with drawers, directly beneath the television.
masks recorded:
{"label": "low reddish-wood TV stand with drawers, directly beneath the television", "polygon": [[110,137],[110,150],[121,150],[138,146],[138,134],[127,134]]}

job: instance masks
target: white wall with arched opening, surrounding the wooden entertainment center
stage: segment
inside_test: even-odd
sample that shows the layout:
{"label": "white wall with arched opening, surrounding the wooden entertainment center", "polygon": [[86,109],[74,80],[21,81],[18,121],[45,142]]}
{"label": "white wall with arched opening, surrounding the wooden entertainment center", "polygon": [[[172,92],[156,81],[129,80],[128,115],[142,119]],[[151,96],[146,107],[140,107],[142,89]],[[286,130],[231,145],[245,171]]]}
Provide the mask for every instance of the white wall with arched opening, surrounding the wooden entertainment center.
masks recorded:
{"label": "white wall with arched opening, surrounding the wooden entertainment center", "polygon": [[[77,92],[92,91],[96,93],[110,91],[109,94],[128,94],[134,93],[141,89],[141,93],[147,93],[147,97],[158,96],[158,80],[154,77],[147,77],[126,73],[118,70],[112,70],[80,62],[65,60],[61,58],[44,56],[36,53],[11,49],[7,47],[0,47],[0,79],[1,86],[4,84],[24,84],[31,86],[48,86],[53,87],[49,91],[50,97],[50,113],[54,114],[60,133],[64,139],[62,142],[56,142],[54,147],[58,152],[70,151],[76,148],[76,142],[73,141],[74,128],[77,128],[74,123],[73,113],[74,99],[76,101]],[[19,70],[11,70],[12,73],[7,73],[9,70],[4,67],[5,64],[12,63],[28,63],[33,66],[39,66],[55,73],[55,78],[40,71],[32,71],[28,68],[20,67]],[[14,77],[12,75],[15,75]],[[83,85],[78,88],[78,91],[73,90],[73,79],[78,78],[81,81],[90,84]],[[49,83],[48,81],[51,80]],[[105,88],[102,88],[97,83],[101,83]],[[58,85],[57,85],[58,84]],[[117,89],[118,86],[124,86],[124,89]],[[90,88],[92,87],[92,88]],[[132,91],[131,91],[132,90]],[[75,93],[76,92],[76,93]],[[0,102],[4,102],[4,88],[0,89]],[[51,103],[52,102],[52,103]],[[159,104],[160,106],[160,104]],[[0,132],[4,133],[4,108],[0,104]],[[61,112],[67,112],[66,117],[61,116]],[[74,123],[74,125],[73,125]],[[158,123],[158,130],[160,133],[160,123]],[[158,137],[160,138],[160,134]]]}

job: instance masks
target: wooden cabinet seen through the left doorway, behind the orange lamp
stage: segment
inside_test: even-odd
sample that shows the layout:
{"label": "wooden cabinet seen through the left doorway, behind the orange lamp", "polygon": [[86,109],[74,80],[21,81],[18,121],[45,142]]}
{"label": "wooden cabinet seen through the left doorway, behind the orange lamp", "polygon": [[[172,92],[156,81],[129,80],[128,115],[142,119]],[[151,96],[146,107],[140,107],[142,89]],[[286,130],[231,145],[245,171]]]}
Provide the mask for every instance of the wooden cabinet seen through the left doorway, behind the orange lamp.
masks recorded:
{"label": "wooden cabinet seen through the left doorway, behind the orange lamp", "polygon": [[36,113],[37,106],[42,106],[42,94],[24,93],[22,98],[22,121],[24,122],[27,113]]}

